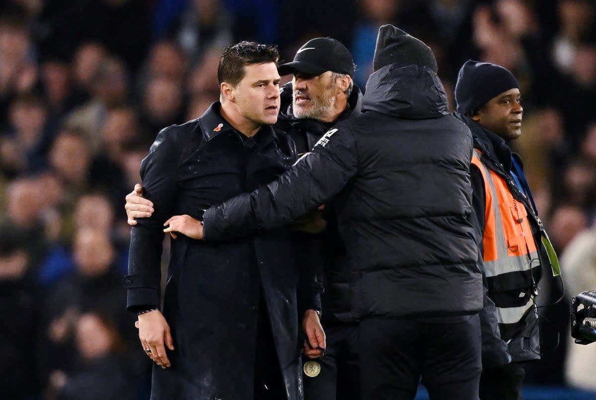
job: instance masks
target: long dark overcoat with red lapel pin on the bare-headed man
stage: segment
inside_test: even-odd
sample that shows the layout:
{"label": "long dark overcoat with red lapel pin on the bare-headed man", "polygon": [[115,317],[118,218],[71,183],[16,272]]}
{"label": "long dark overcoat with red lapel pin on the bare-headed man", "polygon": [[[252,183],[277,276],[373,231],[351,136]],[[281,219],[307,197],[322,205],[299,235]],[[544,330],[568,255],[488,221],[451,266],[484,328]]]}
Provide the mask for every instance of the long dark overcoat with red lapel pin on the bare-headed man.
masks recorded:
{"label": "long dark overcoat with red lapel pin on the bare-headed man", "polygon": [[[246,138],[221,117],[220,107],[216,102],[200,118],[163,129],[141,164],[145,197],[156,211],[132,228],[129,308],[160,304],[166,219],[202,219],[202,210],[271,182],[296,159],[283,132],[263,126]],[[185,235],[170,243],[163,314],[175,350],[168,351],[171,368],[154,365],[152,398],[253,399],[257,315],[266,305],[287,398],[302,399],[298,271],[287,228],[226,243]]]}

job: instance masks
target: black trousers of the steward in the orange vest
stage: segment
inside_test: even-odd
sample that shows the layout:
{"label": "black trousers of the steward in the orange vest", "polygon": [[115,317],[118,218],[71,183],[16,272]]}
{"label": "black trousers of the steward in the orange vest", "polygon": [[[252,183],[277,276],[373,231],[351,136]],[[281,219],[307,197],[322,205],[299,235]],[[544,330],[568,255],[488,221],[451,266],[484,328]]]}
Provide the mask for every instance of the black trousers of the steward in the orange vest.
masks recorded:
{"label": "black trousers of the steward in the orange vest", "polygon": [[480,399],[522,400],[524,376],[526,371],[515,362],[502,367],[483,368],[480,375]]}

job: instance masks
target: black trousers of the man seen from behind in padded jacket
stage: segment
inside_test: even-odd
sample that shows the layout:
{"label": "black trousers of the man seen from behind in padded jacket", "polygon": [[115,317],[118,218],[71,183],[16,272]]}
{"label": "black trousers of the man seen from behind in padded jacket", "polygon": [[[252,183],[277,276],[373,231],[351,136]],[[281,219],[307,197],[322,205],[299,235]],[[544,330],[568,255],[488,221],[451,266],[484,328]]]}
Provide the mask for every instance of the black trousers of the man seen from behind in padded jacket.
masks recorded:
{"label": "black trousers of the man seen from behind in padded jacket", "polygon": [[431,400],[478,400],[482,360],[478,315],[460,323],[362,320],[363,400],[414,399],[422,377]]}

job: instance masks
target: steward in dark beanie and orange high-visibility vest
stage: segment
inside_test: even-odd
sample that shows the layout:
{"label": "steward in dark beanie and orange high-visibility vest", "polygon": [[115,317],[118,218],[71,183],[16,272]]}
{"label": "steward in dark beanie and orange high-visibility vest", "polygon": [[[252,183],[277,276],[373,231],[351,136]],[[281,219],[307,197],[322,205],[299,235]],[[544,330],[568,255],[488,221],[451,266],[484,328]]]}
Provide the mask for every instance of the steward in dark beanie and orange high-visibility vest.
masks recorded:
{"label": "steward in dark beanie and orange high-visibility vest", "polygon": [[[472,132],[471,180],[482,254],[482,400],[521,399],[523,362],[541,358],[535,297],[542,266],[558,262],[509,143],[522,134],[517,79],[501,66],[467,61],[455,116]],[[549,256],[551,259],[549,259]]]}

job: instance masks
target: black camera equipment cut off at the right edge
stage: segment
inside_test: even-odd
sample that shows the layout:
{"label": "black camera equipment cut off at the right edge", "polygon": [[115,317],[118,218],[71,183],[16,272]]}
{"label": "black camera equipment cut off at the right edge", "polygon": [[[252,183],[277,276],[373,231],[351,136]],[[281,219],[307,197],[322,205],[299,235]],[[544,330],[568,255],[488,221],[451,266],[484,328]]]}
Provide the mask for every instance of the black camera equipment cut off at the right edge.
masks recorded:
{"label": "black camera equipment cut off at the right edge", "polygon": [[579,293],[571,300],[571,336],[579,345],[596,342],[596,290]]}

